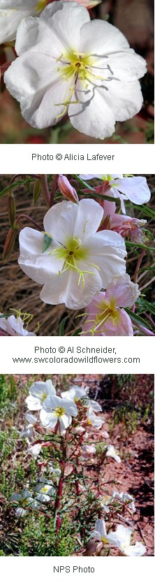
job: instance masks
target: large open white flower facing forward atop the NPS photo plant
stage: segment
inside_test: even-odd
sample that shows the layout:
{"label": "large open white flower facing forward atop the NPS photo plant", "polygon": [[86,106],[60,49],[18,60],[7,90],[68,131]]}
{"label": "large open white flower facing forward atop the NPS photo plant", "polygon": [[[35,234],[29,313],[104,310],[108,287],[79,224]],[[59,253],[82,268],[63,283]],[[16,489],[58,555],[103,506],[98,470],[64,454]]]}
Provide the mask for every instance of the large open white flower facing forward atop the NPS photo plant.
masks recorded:
{"label": "large open white flower facing forward atop the NPS photo plant", "polygon": [[73,400],[48,396],[40,410],[40,420],[46,428],[54,429],[59,421],[60,431],[64,432],[71,424],[72,417],[77,416],[77,407]]}

